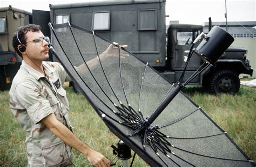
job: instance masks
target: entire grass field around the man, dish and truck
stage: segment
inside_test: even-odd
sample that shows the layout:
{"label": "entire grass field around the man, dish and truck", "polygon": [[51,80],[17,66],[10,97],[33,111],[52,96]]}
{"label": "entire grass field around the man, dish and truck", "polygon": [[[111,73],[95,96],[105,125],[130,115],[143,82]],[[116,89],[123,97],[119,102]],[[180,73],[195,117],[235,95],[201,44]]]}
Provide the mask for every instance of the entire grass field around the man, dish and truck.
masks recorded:
{"label": "entire grass field around the man, dish and truck", "polygon": [[[70,121],[76,136],[112,159],[111,144],[118,142],[99,119],[82,95],[66,88],[70,101]],[[197,103],[217,124],[226,130],[238,146],[256,160],[256,88],[241,86],[238,95],[213,96],[201,87],[185,89],[186,95]],[[8,92],[0,92],[0,166],[26,166],[25,132],[9,110]],[[89,166],[87,159],[73,151],[76,166]],[[138,156],[134,166],[146,166]]]}

